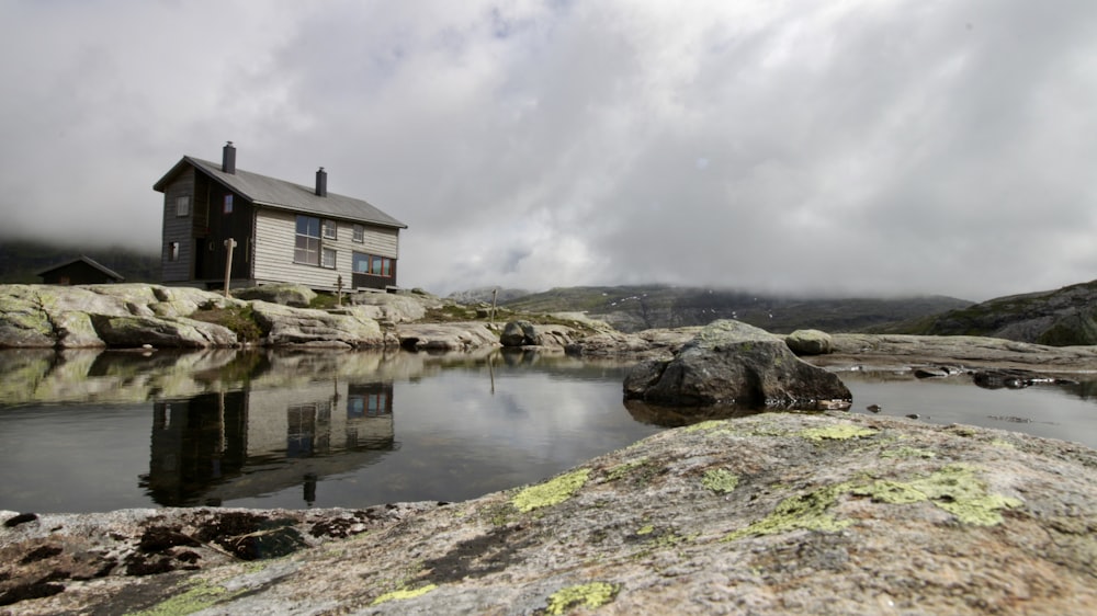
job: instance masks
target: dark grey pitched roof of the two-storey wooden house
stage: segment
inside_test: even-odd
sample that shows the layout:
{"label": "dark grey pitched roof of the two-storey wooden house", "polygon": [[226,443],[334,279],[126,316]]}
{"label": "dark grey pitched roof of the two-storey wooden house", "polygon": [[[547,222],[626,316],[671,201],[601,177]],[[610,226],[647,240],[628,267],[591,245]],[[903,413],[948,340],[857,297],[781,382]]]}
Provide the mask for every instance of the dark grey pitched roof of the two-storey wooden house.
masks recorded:
{"label": "dark grey pitched roof of the two-storey wooden house", "polygon": [[162,193],[171,179],[185,166],[194,167],[258,206],[370,223],[382,227],[407,228],[404,223],[360,198],[330,192],[327,196],[317,196],[314,187],[251,173],[240,168],[236,169],[236,173],[225,173],[220,170],[220,164],[190,156],[184,156],[171,171],[152,185],[152,189]]}

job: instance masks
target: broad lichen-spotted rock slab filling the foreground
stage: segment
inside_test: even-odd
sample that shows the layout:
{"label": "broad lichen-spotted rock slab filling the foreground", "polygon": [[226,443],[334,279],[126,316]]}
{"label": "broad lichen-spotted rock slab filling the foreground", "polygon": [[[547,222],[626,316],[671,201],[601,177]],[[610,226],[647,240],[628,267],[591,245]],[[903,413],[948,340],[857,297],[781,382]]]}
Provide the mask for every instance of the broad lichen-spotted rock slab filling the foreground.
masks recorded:
{"label": "broad lichen-spotted rock slab filling the foreground", "polygon": [[[1087,614],[1095,467],[1005,431],[764,413],[444,506],[41,514],[0,525],[0,593],[43,591],[27,616]],[[297,539],[244,560],[273,526]]]}

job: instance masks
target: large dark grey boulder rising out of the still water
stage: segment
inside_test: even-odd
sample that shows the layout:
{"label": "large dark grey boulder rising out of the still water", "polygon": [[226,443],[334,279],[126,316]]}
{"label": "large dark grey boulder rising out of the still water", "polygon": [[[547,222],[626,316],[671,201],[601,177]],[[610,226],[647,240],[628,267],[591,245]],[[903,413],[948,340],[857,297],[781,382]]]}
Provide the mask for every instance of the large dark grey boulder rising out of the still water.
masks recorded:
{"label": "large dark grey boulder rising out of the still water", "polygon": [[780,336],[733,320],[712,322],[670,361],[635,366],[624,393],[683,407],[818,408],[852,399],[835,374],[798,358]]}

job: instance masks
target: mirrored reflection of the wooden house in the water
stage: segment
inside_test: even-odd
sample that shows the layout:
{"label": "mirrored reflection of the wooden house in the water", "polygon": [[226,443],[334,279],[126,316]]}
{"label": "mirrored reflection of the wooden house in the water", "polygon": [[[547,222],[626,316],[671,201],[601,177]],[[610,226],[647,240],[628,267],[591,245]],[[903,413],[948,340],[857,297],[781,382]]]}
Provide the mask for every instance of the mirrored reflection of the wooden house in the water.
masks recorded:
{"label": "mirrored reflection of the wooden house in the water", "polygon": [[220,504],[304,486],[396,447],[393,384],[313,383],[157,402],[144,482],[162,505]]}

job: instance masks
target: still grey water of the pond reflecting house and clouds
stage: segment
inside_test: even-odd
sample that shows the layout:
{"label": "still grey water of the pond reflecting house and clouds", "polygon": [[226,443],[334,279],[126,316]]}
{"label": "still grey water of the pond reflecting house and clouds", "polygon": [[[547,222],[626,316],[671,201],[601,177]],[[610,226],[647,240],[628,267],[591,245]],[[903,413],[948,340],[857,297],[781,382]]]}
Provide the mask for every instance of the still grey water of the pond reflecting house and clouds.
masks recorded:
{"label": "still grey water of the pond reflecting house and clouds", "polygon": [[[0,353],[0,510],[359,507],[538,481],[681,423],[535,353]],[[842,374],[852,412],[1097,446],[1093,384]]]}

